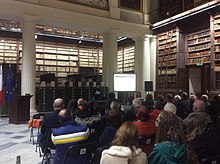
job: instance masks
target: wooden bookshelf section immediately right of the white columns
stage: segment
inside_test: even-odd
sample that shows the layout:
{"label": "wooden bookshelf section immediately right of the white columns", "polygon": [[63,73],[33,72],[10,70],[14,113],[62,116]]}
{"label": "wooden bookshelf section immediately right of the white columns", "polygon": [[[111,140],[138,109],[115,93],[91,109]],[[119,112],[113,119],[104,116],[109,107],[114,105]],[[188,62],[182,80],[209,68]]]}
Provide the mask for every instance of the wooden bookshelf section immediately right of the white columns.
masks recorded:
{"label": "wooden bookshelf section immediately right of the white columns", "polygon": [[157,55],[157,77],[158,89],[176,88],[176,51],[177,51],[177,31],[176,29],[160,33],[157,35],[158,55]]}

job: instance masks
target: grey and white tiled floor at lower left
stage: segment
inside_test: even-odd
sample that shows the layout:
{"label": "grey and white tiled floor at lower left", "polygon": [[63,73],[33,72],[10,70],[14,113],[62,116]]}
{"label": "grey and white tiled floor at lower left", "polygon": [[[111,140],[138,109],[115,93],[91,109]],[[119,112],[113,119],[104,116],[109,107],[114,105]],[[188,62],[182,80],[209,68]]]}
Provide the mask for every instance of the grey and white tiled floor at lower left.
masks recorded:
{"label": "grey and white tiled floor at lower left", "polygon": [[8,118],[0,121],[0,164],[15,164],[21,157],[21,164],[39,164],[41,158],[35,152],[35,145],[29,140],[27,124],[9,124]]}

